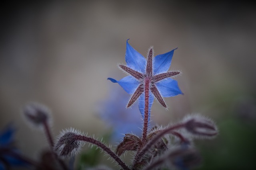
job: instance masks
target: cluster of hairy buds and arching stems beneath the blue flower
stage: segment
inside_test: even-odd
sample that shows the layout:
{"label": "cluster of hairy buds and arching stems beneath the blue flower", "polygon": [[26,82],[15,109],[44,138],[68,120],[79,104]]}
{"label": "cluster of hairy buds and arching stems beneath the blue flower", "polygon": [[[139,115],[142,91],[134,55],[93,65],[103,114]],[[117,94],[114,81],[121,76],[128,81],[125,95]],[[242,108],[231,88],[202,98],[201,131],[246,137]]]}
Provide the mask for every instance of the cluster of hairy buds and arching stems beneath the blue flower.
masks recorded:
{"label": "cluster of hairy buds and arching stems beneath the blue flower", "polygon": [[[68,158],[76,155],[83,143],[89,142],[106,151],[126,170],[129,170],[129,168],[119,156],[128,150],[137,152],[134,157],[133,169],[150,170],[163,165],[178,169],[193,168],[200,164],[201,156],[190,145],[192,142],[191,137],[203,139],[214,137],[217,134],[218,129],[215,123],[209,118],[197,114],[185,117],[180,123],[166,128],[153,127],[148,131],[146,145],[140,150],[138,149],[142,140],[134,134],[126,134],[123,141],[117,146],[116,153],[114,153],[100,141],[86,137],[86,135],[73,128],[66,129],[60,133],[54,150],[61,158]],[[167,135],[180,139],[180,144],[172,143]]]}

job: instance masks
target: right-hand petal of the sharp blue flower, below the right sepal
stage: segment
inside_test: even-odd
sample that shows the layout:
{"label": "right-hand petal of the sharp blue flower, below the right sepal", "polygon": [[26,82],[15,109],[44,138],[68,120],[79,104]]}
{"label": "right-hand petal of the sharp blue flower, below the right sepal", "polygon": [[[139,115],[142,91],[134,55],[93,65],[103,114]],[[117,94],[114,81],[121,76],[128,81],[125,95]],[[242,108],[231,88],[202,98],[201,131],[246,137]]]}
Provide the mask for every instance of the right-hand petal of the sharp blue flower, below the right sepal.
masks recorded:
{"label": "right-hand petal of the sharp blue flower, below the right sepal", "polygon": [[166,78],[160,82],[157,82],[156,87],[164,98],[183,94],[178,86],[178,82],[172,78]]}

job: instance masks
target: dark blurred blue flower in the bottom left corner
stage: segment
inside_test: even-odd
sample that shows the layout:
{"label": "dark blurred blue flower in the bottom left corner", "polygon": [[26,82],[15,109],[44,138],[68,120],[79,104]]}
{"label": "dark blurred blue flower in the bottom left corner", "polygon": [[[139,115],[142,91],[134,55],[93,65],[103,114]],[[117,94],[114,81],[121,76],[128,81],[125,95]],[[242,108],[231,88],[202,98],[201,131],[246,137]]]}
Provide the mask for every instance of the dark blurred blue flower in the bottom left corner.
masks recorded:
{"label": "dark blurred blue flower in the bottom left corner", "polygon": [[9,169],[10,166],[23,166],[25,162],[14,147],[14,127],[8,125],[0,132],[0,170]]}

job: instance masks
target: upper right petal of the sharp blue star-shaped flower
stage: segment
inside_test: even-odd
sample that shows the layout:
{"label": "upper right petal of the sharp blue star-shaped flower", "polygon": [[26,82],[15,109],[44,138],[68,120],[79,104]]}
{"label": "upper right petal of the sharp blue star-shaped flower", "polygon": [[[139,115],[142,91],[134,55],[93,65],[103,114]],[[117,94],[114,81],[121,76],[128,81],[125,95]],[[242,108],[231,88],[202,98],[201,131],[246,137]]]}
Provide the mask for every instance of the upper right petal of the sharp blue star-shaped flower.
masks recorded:
{"label": "upper right petal of the sharp blue star-shaped flower", "polygon": [[[177,49],[177,48],[176,48]],[[174,50],[176,50],[174,49]],[[159,74],[162,72],[167,72],[171,66],[172,56],[174,53],[174,50],[157,55],[153,58],[153,72],[154,74]]]}

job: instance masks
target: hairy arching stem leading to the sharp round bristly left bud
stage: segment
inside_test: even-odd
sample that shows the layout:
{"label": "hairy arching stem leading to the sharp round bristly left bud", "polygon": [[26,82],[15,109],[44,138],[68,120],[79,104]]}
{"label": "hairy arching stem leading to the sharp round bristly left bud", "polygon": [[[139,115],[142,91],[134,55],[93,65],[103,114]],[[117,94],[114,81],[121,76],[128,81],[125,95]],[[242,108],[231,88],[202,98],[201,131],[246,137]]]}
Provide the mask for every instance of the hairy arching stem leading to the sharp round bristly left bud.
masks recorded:
{"label": "hairy arching stem leading to the sharp round bristly left bud", "polygon": [[102,150],[104,150],[105,152],[107,152],[114,160],[116,160],[116,162],[124,169],[124,170],[130,170],[130,168],[128,168],[128,166],[108,147],[106,147],[106,145],[104,145],[103,143],[101,143],[100,141],[97,141],[93,138],[90,137],[86,137],[86,136],[82,136],[82,135],[77,135],[77,140],[79,141],[84,141],[84,142],[89,142],[92,143],[94,145],[97,145],[98,147],[100,147]]}

